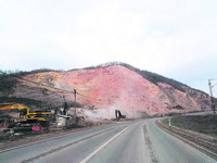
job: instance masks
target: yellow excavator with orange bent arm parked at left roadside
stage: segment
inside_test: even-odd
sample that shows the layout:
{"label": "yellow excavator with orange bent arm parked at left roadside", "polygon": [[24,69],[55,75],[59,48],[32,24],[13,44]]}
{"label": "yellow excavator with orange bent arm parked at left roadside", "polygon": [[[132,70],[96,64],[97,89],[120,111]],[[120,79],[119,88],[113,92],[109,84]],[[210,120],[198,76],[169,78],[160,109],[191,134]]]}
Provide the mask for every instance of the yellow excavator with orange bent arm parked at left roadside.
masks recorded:
{"label": "yellow excavator with orange bent arm parked at left roadside", "polygon": [[20,103],[0,103],[0,128],[16,128],[16,130],[48,129],[49,122],[54,118],[50,111],[30,112],[30,109]]}

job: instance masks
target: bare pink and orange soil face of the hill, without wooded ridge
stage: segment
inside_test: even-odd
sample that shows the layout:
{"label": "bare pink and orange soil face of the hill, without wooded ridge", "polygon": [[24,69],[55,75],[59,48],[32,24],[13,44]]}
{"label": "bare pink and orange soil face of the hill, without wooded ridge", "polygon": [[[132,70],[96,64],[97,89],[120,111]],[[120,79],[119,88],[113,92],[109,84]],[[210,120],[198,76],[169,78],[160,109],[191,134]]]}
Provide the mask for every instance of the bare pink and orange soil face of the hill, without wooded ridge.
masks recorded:
{"label": "bare pink and orange soil face of the hill, without wooded ridge", "polygon": [[[77,70],[68,72],[46,72],[25,76],[42,85],[77,90],[77,101],[95,108],[118,109],[128,117],[142,114],[165,114],[170,112],[199,111],[209,108],[208,96],[183,87],[186,92],[173,86],[158,83],[157,85],[143,78],[138,73],[122,66],[113,65],[100,68]],[[34,84],[20,82],[13,96],[28,97],[37,100],[56,102],[51,96],[40,98],[41,92],[22,93],[22,85],[35,87]],[[56,91],[55,89],[53,89]],[[73,92],[56,91],[68,101],[74,100]]]}

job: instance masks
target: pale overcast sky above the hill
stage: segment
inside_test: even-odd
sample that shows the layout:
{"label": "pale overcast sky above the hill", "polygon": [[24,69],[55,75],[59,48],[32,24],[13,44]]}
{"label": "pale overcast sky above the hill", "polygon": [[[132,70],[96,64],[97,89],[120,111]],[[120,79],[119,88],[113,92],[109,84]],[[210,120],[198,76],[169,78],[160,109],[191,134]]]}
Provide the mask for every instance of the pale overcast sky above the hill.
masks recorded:
{"label": "pale overcast sky above the hill", "polygon": [[0,70],[112,61],[208,92],[217,78],[217,0],[0,0]]}

